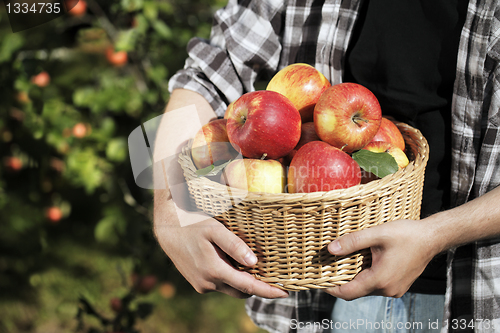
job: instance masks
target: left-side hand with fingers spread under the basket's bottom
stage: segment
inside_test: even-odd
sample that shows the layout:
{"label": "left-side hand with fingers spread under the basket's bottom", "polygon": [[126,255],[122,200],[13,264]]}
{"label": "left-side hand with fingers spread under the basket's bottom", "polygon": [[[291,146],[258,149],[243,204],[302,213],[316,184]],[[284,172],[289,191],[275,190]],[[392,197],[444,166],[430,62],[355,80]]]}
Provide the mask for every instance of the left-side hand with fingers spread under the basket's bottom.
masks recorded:
{"label": "left-side hand with fingers spread under the basket's bottom", "polygon": [[[173,204],[169,201],[163,209],[155,210],[155,215]],[[220,222],[207,218],[181,227],[172,222],[161,222],[162,218],[172,216],[155,216],[157,239],[179,272],[199,293],[219,291],[237,298],[288,296],[287,292],[255,279],[230,263],[228,257],[242,265],[253,266],[257,258],[245,242]]]}

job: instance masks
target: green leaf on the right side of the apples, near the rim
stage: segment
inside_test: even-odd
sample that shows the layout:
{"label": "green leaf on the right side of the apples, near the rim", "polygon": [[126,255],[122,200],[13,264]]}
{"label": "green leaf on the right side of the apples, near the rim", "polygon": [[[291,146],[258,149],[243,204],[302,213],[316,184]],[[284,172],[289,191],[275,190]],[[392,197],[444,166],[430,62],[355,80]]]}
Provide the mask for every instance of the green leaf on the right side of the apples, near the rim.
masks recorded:
{"label": "green leaf on the right side of the apples, near the rim", "polygon": [[398,171],[398,163],[391,154],[382,152],[375,153],[366,149],[358,150],[352,154],[352,158],[358,162],[359,167],[373,173],[379,178]]}

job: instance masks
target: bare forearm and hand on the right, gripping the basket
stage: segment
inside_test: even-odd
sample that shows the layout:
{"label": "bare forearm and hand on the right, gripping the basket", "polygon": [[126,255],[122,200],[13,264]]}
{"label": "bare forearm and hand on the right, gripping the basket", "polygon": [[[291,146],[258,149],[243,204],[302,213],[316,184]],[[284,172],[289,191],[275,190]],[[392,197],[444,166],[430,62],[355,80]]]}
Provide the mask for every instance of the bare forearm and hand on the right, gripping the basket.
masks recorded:
{"label": "bare forearm and hand on the right, gripping the basket", "polygon": [[370,248],[372,266],[351,282],[327,290],[352,300],[367,295],[401,297],[438,253],[500,236],[500,187],[461,206],[419,221],[399,220],[340,237],[334,255]]}

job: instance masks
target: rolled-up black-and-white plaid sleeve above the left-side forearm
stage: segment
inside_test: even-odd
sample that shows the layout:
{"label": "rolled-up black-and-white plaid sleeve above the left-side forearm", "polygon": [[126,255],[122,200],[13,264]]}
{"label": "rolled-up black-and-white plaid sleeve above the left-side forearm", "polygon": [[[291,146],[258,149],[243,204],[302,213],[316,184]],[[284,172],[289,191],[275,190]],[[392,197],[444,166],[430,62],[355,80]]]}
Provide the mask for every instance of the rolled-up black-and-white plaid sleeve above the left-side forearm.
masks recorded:
{"label": "rolled-up black-and-white plaid sleeve above the left-side forearm", "polygon": [[254,90],[261,76],[279,64],[283,1],[229,0],[218,10],[210,38],[192,38],[184,68],[169,81],[169,90],[195,91],[218,116],[242,94]]}

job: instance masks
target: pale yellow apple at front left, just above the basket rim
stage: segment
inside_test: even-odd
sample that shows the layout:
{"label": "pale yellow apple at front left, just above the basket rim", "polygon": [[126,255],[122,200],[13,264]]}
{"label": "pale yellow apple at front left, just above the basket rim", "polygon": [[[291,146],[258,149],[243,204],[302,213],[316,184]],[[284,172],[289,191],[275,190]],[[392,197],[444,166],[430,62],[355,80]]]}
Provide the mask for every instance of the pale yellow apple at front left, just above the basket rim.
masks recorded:
{"label": "pale yellow apple at front left, just above the basket rim", "polygon": [[276,160],[237,159],[224,168],[222,182],[248,192],[283,193],[285,168]]}

